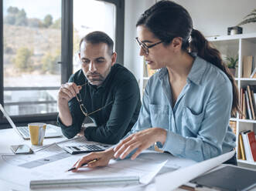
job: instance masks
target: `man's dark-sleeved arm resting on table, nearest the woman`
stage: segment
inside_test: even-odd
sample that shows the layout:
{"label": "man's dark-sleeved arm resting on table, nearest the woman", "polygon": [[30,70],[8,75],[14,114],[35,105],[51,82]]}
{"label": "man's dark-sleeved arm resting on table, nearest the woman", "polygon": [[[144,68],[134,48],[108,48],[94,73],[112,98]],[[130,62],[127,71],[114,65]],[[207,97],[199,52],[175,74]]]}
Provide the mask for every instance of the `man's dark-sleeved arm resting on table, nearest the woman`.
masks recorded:
{"label": "man's dark-sleeved arm resting on table, nearest the woman", "polygon": [[140,106],[140,94],[136,80],[120,82],[114,95],[108,122],[103,126],[87,127],[84,136],[97,142],[117,143],[125,136],[131,120],[137,120],[132,118],[138,105]]}

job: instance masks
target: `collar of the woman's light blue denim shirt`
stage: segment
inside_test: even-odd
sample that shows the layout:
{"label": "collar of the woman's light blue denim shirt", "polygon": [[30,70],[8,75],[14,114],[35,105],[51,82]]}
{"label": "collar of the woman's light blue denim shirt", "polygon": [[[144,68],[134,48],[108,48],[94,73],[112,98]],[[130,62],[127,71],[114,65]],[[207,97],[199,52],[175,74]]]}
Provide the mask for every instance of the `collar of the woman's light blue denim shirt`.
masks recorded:
{"label": "collar of the woman's light blue denim shirt", "polygon": [[[195,56],[194,58],[195,60],[193,62],[192,68],[190,69],[187,81],[191,81],[196,85],[200,85],[203,78],[203,72],[205,72],[205,70],[207,69],[207,64],[205,60],[201,59],[198,56]],[[166,75],[168,75],[168,70],[166,69],[166,67],[160,69],[159,79],[161,81],[166,77]]]}

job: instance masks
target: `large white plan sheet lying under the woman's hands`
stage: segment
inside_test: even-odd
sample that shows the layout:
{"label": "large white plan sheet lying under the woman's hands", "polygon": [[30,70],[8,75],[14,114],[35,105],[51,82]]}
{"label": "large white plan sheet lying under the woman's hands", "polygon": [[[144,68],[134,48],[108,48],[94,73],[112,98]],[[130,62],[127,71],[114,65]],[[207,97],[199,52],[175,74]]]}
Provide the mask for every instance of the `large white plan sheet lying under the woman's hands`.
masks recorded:
{"label": "large white plan sheet lying under the woman's hands", "polygon": [[[57,161],[56,163],[48,163],[45,166],[36,167],[36,171],[50,174],[48,179],[84,179],[87,177],[102,177],[102,176],[139,176],[142,182],[147,184],[159,172],[162,166],[165,165],[169,155],[159,154],[155,152],[142,153],[138,159],[131,160],[111,160],[108,166],[104,168],[88,169],[81,168],[79,173],[64,173],[69,169],[77,159],[84,155],[75,155],[66,159]],[[55,169],[53,171],[53,169]]]}

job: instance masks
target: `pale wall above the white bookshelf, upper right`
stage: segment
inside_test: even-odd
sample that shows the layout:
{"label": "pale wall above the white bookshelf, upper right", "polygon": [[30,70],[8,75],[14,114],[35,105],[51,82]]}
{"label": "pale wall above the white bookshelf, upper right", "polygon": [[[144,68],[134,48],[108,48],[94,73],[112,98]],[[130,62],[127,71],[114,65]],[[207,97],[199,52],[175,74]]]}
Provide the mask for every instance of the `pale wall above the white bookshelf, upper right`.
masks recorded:
{"label": "pale wall above the white bookshelf, upper right", "polygon": [[[227,35],[227,27],[235,26],[256,8],[255,0],[175,0],[193,18],[194,28],[203,35]],[[256,32],[256,23],[241,25],[243,33]]]}

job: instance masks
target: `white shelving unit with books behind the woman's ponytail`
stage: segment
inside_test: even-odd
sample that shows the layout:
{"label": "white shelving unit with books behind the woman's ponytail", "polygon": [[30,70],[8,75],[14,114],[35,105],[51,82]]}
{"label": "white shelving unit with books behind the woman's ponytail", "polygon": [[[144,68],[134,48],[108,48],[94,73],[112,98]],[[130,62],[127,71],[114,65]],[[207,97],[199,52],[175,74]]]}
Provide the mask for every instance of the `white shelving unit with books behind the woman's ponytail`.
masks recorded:
{"label": "white shelving unit with books behind the woman's ponytail", "polygon": [[[243,78],[243,56],[252,55],[254,57],[254,65],[256,59],[256,33],[241,34],[241,35],[226,35],[216,36],[207,39],[221,52],[223,59],[225,56],[238,55],[238,67],[235,75],[235,81],[239,92],[241,88],[246,88],[247,85],[256,85],[256,79]],[[256,66],[255,66],[256,67]],[[240,95],[240,93],[239,93]],[[230,121],[236,122],[236,135],[237,135],[237,148],[238,149],[238,136],[239,132],[243,130],[251,130],[256,132],[256,120],[252,119],[239,119],[239,115],[231,118]],[[256,162],[237,159],[238,163],[246,163],[256,166]]]}

